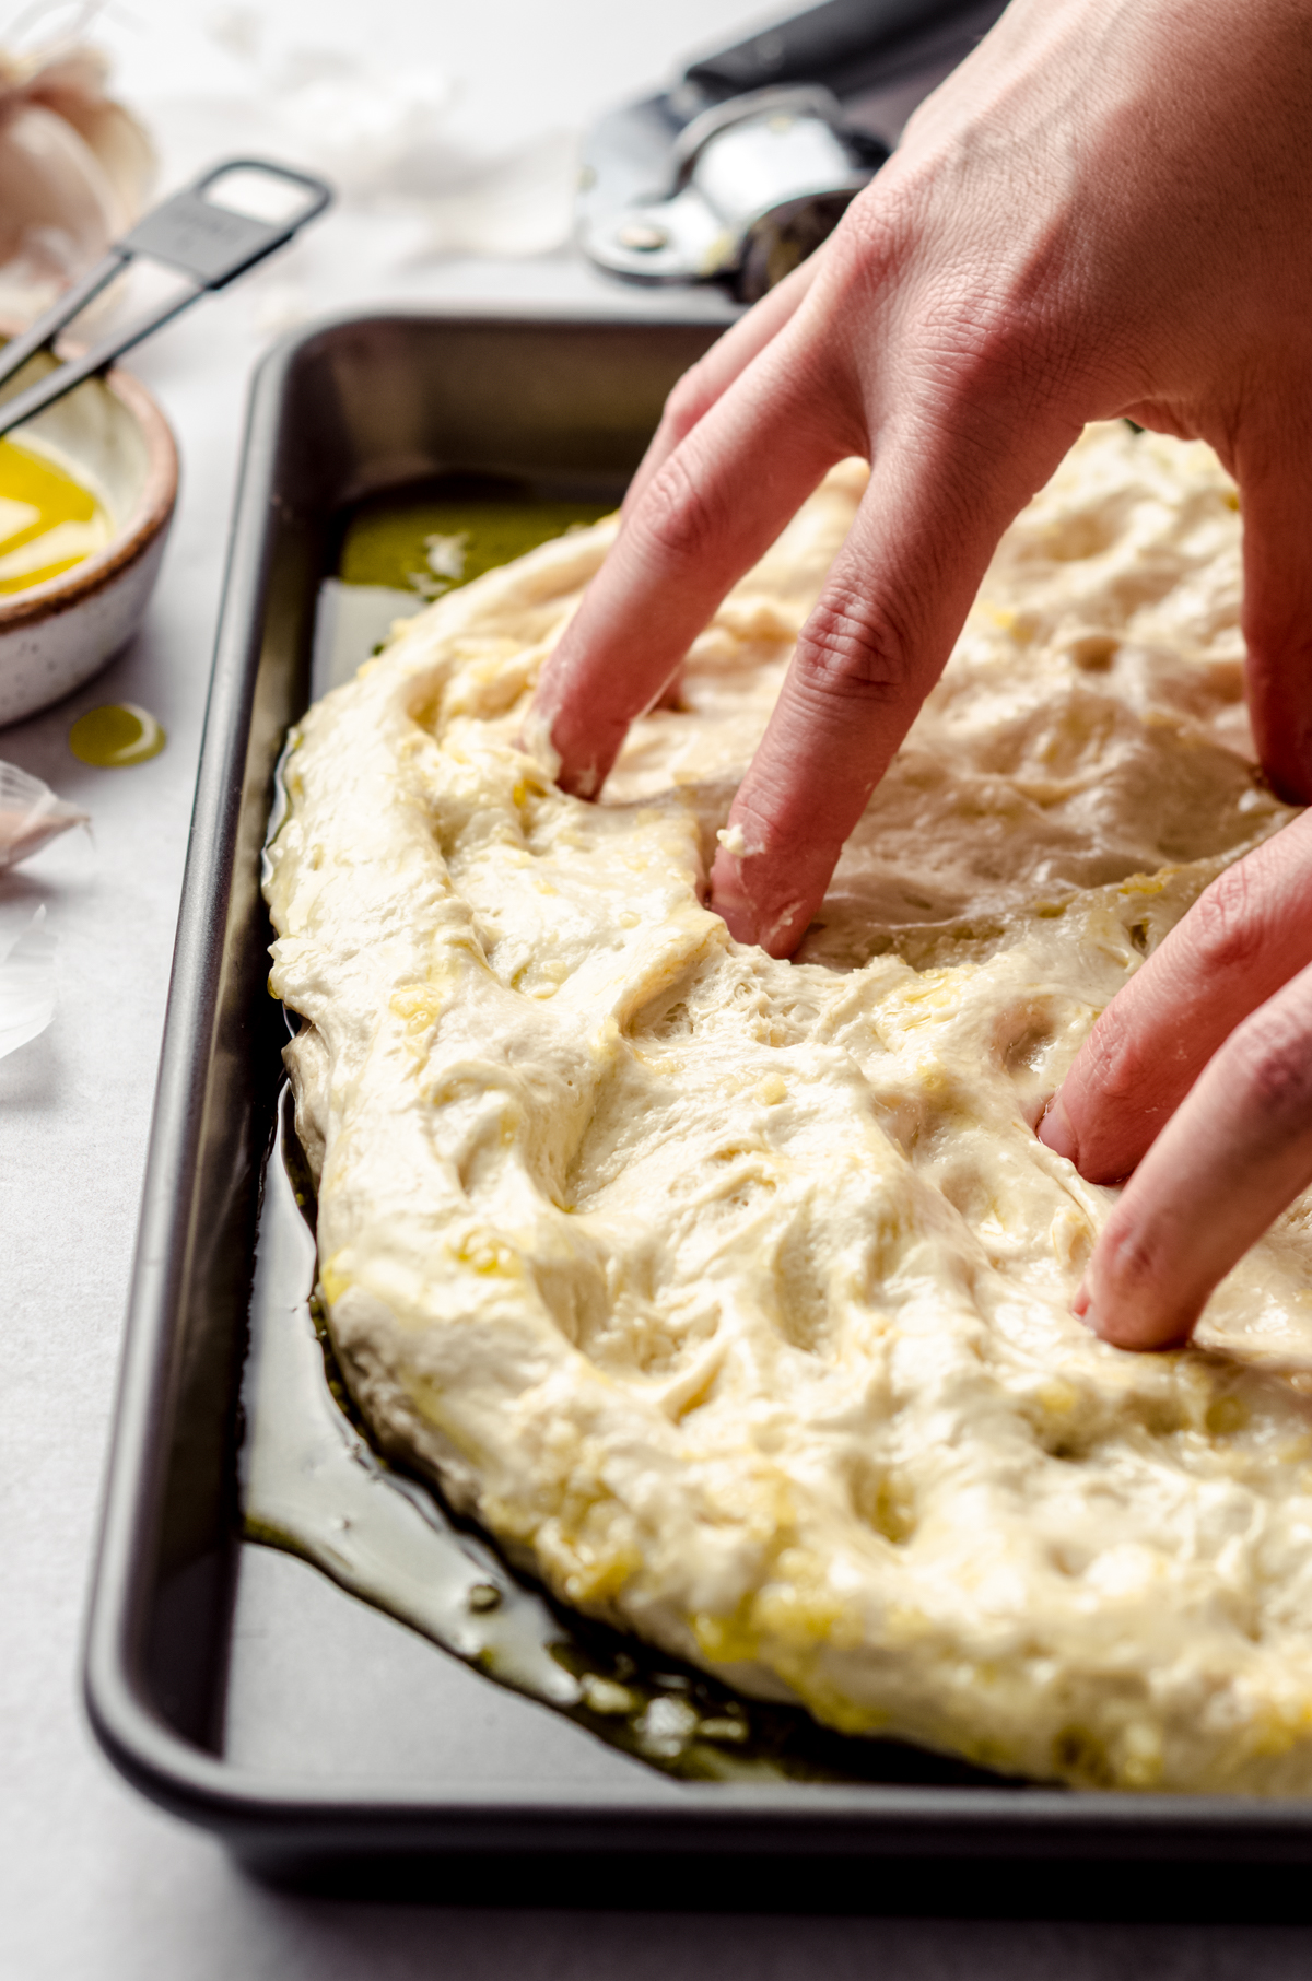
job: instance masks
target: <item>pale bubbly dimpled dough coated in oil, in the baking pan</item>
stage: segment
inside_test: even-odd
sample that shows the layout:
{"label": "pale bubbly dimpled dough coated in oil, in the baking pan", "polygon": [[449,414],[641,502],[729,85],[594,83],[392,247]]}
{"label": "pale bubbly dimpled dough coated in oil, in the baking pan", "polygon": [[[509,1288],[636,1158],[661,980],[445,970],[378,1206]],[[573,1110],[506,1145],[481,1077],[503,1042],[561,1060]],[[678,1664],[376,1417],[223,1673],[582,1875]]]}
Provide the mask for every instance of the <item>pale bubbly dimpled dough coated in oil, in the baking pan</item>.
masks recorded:
{"label": "pale bubbly dimpled dough coated in oil, in the baking pan", "polygon": [[305,717],[272,987],[341,1365],[551,1589],[747,1692],[1039,1779],[1308,1793],[1312,1206],[1195,1349],[1126,1355],[1068,1313],[1114,1193],[1033,1133],[1288,818],[1233,487],[1090,428],[775,963],[706,864],[862,485],[737,586],[602,804],[515,737],[612,523]]}

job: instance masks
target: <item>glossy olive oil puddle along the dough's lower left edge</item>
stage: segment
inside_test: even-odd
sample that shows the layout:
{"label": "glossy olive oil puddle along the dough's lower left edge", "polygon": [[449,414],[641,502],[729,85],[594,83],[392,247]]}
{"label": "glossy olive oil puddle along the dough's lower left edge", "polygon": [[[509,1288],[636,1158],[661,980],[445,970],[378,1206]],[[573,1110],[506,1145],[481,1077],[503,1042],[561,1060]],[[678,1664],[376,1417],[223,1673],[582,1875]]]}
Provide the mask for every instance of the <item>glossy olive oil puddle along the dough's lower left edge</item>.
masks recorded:
{"label": "glossy olive oil puddle along the dough's lower left edge", "polygon": [[997,1783],[965,1763],[854,1739],[557,1605],[436,1490],[367,1442],[323,1331],[313,1183],[283,1092],[256,1242],[242,1383],[242,1529],[287,1549],[462,1662],[690,1781]]}

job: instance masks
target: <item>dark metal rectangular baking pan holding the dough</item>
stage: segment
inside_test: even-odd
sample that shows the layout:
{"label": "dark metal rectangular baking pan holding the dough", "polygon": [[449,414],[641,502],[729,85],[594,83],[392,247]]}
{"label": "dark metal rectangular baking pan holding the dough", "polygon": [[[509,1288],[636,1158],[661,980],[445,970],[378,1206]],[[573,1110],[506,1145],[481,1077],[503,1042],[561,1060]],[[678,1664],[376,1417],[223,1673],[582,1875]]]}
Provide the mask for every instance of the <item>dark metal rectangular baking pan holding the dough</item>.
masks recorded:
{"label": "dark metal rectangular baking pan holding the dough", "polygon": [[285,1040],[260,848],[339,519],[452,468],[618,495],[715,329],[351,317],[258,376],[87,1634],[91,1721],[155,1801],[254,1868],[335,1890],[373,1876],[497,1900],[1199,1910],[1201,1860],[1221,1860],[1247,1870],[1209,1894],[1260,1880],[1260,1910],[1298,1912],[1306,1803],[935,1779],[892,1745],[878,1781],[674,1781],[240,1535],[240,1377]]}

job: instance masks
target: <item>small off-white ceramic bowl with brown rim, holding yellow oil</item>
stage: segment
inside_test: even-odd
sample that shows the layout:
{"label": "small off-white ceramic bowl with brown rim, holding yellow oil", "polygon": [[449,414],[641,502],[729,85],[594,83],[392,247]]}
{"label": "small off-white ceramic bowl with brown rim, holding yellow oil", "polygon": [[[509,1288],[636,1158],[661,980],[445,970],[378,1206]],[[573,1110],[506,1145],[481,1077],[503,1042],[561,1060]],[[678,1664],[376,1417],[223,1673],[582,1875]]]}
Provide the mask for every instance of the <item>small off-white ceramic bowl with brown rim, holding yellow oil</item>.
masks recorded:
{"label": "small off-white ceramic bowl with brown rim, holding yellow oil", "polygon": [[[6,333],[0,327],[0,337]],[[54,365],[46,355],[32,359],[4,396]],[[109,511],[113,537],[59,576],[0,594],[0,725],[81,687],[133,636],[178,495],[168,422],[125,370],[87,378],[14,438],[28,432],[57,448],[73,473],[83,471]]]}

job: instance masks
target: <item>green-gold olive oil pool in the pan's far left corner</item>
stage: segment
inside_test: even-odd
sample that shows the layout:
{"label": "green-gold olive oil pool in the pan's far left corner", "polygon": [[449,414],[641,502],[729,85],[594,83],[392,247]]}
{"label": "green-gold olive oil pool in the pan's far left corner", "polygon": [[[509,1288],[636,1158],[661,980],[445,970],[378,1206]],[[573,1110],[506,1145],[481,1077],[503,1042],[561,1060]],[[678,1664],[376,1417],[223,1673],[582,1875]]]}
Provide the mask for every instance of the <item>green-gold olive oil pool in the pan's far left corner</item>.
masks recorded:
{"label": "green-gold olive oil pool in the pan's far left corner", "polygon": [[341,527],[335,576],[319,586],[311,701],[349,681],[398,618],[614,507],[614,495],[567,499],[525,481],[464,473],[357,503]]}

